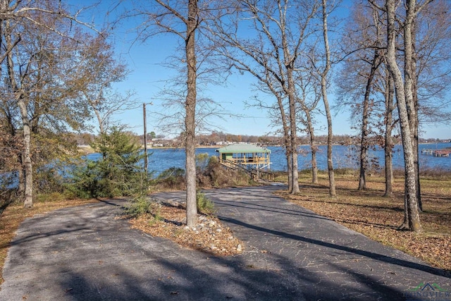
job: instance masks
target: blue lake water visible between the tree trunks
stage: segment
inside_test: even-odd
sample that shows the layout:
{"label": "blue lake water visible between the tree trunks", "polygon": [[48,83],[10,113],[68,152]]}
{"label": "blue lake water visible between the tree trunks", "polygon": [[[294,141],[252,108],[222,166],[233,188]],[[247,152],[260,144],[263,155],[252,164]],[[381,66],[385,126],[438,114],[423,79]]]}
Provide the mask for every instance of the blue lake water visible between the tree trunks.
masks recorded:
{"label": "blue lake water visible between the tree trunks", "polygon": [[[425,144],[420,145],[419,149],[444,149],[451,147],[451,143]],[[217,156],[217,148],[198,148],[196,154],[209,154],[210,156]],[[283,147],[268,147],[271,149],[271,170],[272,171],[286,171],[287,164],[285,160],[285,151]],[[185,149],[149,149],[149,171],[154,171],[156,175],[173,166],[178,168],[185,168]],[[346,147],[342,145],[333,146],[333,167],[334,168],[358,168],[357,149],[354,147]],[[97,159],[99,154],[90,154],[88,158]],[[378,162],[378,165],[383,168],[384,154],[383,149],[377,147],[369,152],[369,156]],[[298,165],[299,170],[311,167],[311,154],[308,146],[299,147]],[[327,170],[327,147],[326,145],[319,146],[317,154],[318,168],[320,170]],[[402,168],[404,166],[404,157],[400,145],[395,147],[393,153],[393,167]],[[451,171],[451,157],[435,157],[430,155],[420,154],[421,168],[442,168]]]}

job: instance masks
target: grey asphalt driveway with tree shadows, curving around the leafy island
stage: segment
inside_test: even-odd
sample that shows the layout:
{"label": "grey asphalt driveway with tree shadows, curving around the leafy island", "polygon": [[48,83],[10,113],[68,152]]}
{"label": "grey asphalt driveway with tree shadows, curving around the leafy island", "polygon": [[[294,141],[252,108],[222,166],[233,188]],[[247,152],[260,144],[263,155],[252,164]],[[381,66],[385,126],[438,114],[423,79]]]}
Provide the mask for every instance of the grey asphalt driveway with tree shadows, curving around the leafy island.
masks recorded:
{"label": "grey asphalt driveway with tree shadows, curving around the leafy island", "polygon": [[451,279],[440,270],[286,202],[276,189],[206,192],[245,242],[237,257],[132,230],[116,218],[123,201],[27,219],[8,252],[0,300],[451,300]]}

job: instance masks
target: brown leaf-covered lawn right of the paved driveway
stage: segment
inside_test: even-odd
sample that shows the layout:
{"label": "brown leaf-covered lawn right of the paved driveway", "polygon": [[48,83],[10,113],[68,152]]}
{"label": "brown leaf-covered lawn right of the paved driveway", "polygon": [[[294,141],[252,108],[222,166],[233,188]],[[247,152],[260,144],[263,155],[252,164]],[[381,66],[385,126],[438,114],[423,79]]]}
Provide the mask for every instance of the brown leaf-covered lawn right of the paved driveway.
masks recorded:
{"label": "brown leaf-covered lawn right of the paved driveway", "polygon": [[404,218],[404,180],[395,180],[393,197],[382,197],[383,178],[370,178],[367,190],[358,191],[352,176],[336,176],[337,197],[329,197],[328,180],[319,184],[303,178],[300,195],[279,192],[290,202],[311,209],[373,240],[412,254],[439,269],[451,271],[451,180],[421,180],[424,212],[420,215],[423,232],[412,233],[397,228]]}

